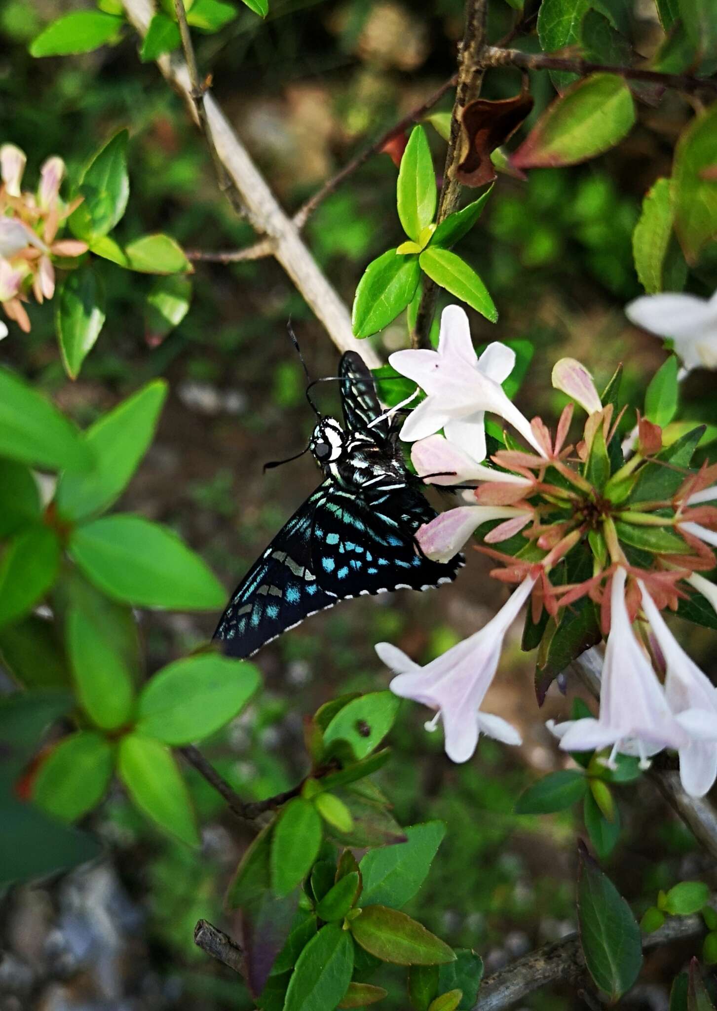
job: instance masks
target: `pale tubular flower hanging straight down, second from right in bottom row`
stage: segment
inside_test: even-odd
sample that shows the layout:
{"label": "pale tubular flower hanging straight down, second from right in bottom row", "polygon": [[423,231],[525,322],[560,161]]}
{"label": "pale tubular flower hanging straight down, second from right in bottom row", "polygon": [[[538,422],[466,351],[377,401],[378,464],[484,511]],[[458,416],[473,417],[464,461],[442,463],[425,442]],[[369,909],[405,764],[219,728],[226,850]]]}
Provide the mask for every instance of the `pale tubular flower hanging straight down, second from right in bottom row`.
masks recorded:
{"label": "pale tubular flower hanging straight down, second from right in bottom row", "polygon": [[618,568],[610,591],[610,635],[605,650],[598,719],[571,720],[551,728],[565,751],[613,745],[613,754],[647,757],[662,748],[681,748],[687,731],[676,720],[647,655],[630,624],[625,604],[626,571]]}

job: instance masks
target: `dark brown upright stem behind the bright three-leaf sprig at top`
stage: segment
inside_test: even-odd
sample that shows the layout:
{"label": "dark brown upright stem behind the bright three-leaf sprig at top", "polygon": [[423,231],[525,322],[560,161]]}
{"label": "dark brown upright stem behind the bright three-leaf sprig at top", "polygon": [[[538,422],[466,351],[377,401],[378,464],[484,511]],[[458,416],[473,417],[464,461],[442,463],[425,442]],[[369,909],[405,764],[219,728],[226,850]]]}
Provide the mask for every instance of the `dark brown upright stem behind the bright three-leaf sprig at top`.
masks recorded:
{"label": "dark brown upright stem behind the bright three-leaf sprig at top", "polygon": [[[468,102],[472,102],[480,93],[483,76],[480,55],[485,44],[486,11],[487,0],[468,0],[466,3],[465,30],[458,66],[458,86],[453,103],[453,115],[451,116],[451,132],[443,170],[443,185],[438,198],[437,224],[440,224],[458,206],[460,183],[455,178],[455,170],[460,163],[462,154],[460,144],[461,117]],[[438,286],[430,278],[425,278],[423,294],[416,314],[416,324],[411,335],[412,347],[431,347],[429,335],[437,299]]]}

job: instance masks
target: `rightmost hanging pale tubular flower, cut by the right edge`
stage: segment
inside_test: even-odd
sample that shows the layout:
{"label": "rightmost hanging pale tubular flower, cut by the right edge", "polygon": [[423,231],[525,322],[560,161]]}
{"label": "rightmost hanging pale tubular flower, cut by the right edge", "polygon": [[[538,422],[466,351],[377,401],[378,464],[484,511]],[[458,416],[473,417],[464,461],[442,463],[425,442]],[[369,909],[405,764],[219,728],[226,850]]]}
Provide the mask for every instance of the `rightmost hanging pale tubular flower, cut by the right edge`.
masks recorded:
{"label": "rightmost hanging pale tubular flower, cut by the right edge", "polygon": [[664,693],[688,733],[680,749],[680,778],[691,797],[704,797],[717,777],[717,688],[690,659],[664,623],[641,579],[642,609],[666,665]]}

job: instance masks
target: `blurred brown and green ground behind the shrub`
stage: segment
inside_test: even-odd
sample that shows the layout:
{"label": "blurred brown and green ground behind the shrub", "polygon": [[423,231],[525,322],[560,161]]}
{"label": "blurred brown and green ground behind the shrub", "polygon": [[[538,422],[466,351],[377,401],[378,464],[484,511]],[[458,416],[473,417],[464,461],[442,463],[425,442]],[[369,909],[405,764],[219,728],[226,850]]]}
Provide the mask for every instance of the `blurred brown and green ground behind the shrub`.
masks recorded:
{"label": "blurred brown and green ground behind the shrub", "polygon": [[[28,174],[52,153],[76,170],[120,126],[128,125],[131,195],[126,235],[166,229],[187,248],[230,249],[251,241],[231,217],[208,159],[178,100],[153,66],[140,65],[135,41],[67,61],[31,61],[24,43],[46,18],[70,4],[5,0],[0,6],[0,140],[29,156]],[[349,2],[272,5],[266,25],[243,12],[223,32],[199,40],[202,67],[287,206],[300,200],[362,144],[418,104],[453,69],[461,4]],[[506,18],[510,8],[506,5]],[[505,18],[504,18],[505,20]],[[496,26],[496,30],[500,29]],[[645,22],[645,37],[650,25]],[[546,79],[533,82],[538,108]],[[486,94],[518,87],[489,77]],[[448,105],[444,103],[445,108]],[[643,107],[641,124],[617,152],[585,169],[534,172],[528,183],[502,177],[485,219],[466,241],[467,257],[501,310],[498,328],[474,317],[477,343],[527,339],[535,358],[519,402],[554,419],[561,401],[550,370],[563,354],[582,360],[599,387],[625,364],[627,395],[640,391],[662,360],[657,341],[631,330],[622,314],[639,293],[630,232],[645,189],[669,171],[670,144],[689,109],[665,96]],[[436,164],[443,144],[432,135]],[[347,302],[365,264],[399,235],[393,208],[395,169],[378,156],[312,218],[307,234]],[[193,307],[159,346],[146,332],[136,274],[107,268],[109,313],[96,349],[74,384],[63,376],[52,335],[52,307],[36,308],[28,337],[13,333],[0,359],[52,392],[80,423],[155,375],[171,393],[158,438],[119,508],[168,523],[214,567],[228,591],[313,488],[307,459],[262,474],[266,460],[305,445],[311,416],[302,373],[285,333],[292,315],[315,375],[336,370],[338,355],[273,261],[236,267],[198,265]],[[384,335],[405,341],[405,324]],[[322,390],[330,403],[331,387]],[[694,409],[717,421],[710,377],[686,391]],[[629,419],[626,424],[629,424]],[[373,643],[389,639],[426,658],[473,631],[505,600],[489,565],[469,552],[458,582],[440,591],[358,600],[319,615],[258,657],[266,692],[229,732],[207,745],[237,789],[262,797],[303,773],[301,717],[341,691],[384,686]],[[215,616],[144,613],[141,627],[152,672],[205,640]],[[432,875],[409,912],[455,944],[475,947],[496,969],[574,926],[573,877],[579,812],[516,817],[513,804],[537,774],[559,767],[543,727],[567,704],[555,688],[539,713],[533,658],[506,649],[488,708],[516,723],[524,744],[509,750],[482,741],[465,766],[451,765],[440,734],[406,704],[391,735],[395,760],[381,774],[404,824],[445,818],[449,831]],[[693,630],[697,650],[702,646]],[[703,659],[714,661],[704,643]],[[111,844],[97,867],[0,900],[0,1011],[202,1011],[249,1006],[229,971],[208,963],[191,941],[200,916],[231,929],[221,894],[248,841],[197,777],[204,850],[196,858],[161,839],[117,792],[92,818]],[[610,874],[638,908],[656,889],[701,869],[700,856],[649,784],[623,788],[623,837]],[[650,956],[654,984],[625,1006],[666,1008],[666,990],[686,952]],[[388,976],[391,1008],[405,1008],[399,978]],[[3,996],[4,995],[4,996]],[[569,995],[539,994],[531,1007],[576,1007]]]}

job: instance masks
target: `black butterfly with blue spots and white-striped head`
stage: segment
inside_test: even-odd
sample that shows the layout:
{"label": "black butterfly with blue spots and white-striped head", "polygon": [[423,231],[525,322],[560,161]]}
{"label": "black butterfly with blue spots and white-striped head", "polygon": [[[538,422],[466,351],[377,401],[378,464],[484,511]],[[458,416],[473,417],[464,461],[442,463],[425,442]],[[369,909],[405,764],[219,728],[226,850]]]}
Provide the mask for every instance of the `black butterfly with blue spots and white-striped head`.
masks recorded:
{"label": "black butterfly with blue spots and white-striped head", "polygon": [[251,656],[339,601],[434,588],[463,565],[462,555],[436,562],[421,551],[416,531],[437,514],[354,351],[341,358],[339,388],[345,426],[319,415],[307,446],[323,482],[251,567],[214,632],[230,656]]}

